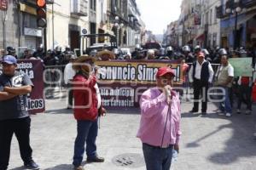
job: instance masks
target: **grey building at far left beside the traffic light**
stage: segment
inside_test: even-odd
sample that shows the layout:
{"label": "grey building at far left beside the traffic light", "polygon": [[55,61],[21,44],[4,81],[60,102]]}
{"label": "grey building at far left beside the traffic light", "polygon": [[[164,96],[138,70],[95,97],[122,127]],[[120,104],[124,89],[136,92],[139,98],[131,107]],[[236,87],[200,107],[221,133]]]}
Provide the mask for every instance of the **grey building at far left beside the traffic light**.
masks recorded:
{"label": "grey building at far left beside the traffic light", "polygon": [[[37,48],[43,42],[43,31],[37,26],[37,6],[32,0],[6,1],[8,9],[1,12],[0,48]],[[4,17],[5,15],[5,17]]]}

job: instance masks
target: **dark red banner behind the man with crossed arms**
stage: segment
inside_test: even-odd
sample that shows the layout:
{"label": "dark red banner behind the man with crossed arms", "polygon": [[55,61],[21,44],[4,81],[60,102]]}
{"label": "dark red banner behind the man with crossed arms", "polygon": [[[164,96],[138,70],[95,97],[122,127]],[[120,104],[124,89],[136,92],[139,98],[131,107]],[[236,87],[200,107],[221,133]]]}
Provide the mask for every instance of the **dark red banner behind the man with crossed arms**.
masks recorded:
{"label": "dark red banner behind the man with crossed arms", "polygon": [[[2,68],[1,74],[2,74]],[[42,113],[44,105],[43,63],[40,59],[19,59],[16,71],[26,73],[33,82],[32,93],[27,96],[27,107],[30,114]]]}

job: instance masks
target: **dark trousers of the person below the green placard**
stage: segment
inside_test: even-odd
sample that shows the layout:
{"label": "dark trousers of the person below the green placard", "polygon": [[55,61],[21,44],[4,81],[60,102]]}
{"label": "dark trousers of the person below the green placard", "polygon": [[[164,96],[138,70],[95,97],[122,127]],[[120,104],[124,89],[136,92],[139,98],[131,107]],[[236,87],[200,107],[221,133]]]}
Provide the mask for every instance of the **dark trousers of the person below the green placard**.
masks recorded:
{"label": "dark trousers of the person below the green placard", "polygon": [[247,105],[247,110],[252,111],[252,88],[247,85],[238,86],[237,109],[241,109],[241,102]]}

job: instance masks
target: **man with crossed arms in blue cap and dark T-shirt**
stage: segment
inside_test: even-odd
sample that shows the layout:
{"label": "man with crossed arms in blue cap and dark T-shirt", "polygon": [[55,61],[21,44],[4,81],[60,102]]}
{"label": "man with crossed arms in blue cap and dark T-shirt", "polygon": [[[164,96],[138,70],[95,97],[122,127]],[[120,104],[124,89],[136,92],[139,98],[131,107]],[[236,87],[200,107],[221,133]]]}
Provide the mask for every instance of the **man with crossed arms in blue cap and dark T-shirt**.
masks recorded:
{"label": "man with crossed arms in blue cap and dark T-shirt", "polygon": [[31,118],[28,114],[27,94],[32,92],[30,78],[18,71],[17,60],[6,55],[2,60],[3,74],[0,76],[0,169],[9,165],[10,145],[15,133],[20,145],[20,156],[27,169],[39,169],[32,160],[30,146]]}

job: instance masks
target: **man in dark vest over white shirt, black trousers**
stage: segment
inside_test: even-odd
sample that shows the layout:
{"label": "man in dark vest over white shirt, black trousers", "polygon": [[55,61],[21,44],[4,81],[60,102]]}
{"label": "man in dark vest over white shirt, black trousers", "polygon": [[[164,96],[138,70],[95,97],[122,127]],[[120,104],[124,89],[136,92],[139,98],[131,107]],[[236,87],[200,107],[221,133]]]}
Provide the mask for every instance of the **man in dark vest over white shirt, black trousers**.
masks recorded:
{"label": "man in dark vest over white shirt, black trousers", "polygon": [[207,91],[209,83],[212,83],[213,74],[212,65],[205,59],[205,55],[198,53],[197,61],[193,63],[189,71],[189,82],[193,82],[194,87],[194,107],[190,112],[198,111],[198,100],[202,94],[201,114],[207,115]]}

